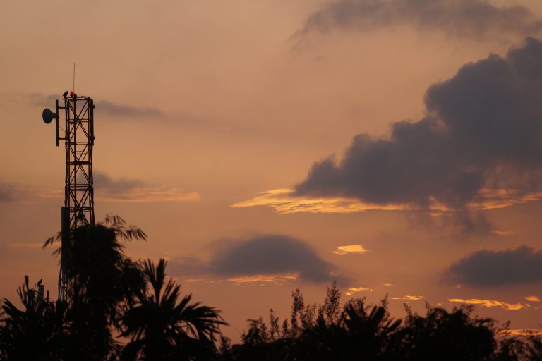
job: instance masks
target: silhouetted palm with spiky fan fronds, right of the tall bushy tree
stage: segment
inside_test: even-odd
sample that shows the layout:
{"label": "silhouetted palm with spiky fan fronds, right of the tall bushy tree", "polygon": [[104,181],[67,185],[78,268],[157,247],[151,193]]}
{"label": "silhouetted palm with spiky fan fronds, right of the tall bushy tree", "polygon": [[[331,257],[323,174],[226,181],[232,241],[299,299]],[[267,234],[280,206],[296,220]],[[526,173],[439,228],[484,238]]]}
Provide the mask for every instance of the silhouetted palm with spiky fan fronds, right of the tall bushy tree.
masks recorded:
{"label": "silhouetted palm with spiky fan fronds, right of the tall bushy tree", "polygon": [[[157,267],[149,259],[143,262],[148,281],[146,295],[129,308],[121,319],[122,336],[129,337],[124,357],[144,360],[182,360],[198,358],[205,351],[214,351],[219,326],[227,325],[219,310],[191,304],[192,295],[182,299],[180,286],[166,281],[167,262],[160,259]],[[179,301],[180,300],[180,301]],[[206,354],[209,357],[209,354]]]}

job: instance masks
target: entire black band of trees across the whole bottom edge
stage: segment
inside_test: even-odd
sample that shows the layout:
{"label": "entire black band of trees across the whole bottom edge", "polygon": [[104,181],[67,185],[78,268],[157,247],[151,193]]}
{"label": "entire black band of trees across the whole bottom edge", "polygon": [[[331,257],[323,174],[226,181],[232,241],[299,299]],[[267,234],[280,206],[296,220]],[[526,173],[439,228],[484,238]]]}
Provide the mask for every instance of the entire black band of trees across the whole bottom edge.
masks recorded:
{"label": "entire black band of trees across the whole bottom edge", "polygon": [[267,322],[250,319],[232,345],[219,310],[181,295],[167,262],[126,257],[121,241],[145,238],[118,216],[73,231],[61,257],[65,300],[42,298],[28,277],[22,307],[2,300],[0,360],[542,360],[541,336],[502,332],[471,307],[393,319],[386,298],[341,305],[335,283],[318,307],[295,290],[287,319],[272,310]]}

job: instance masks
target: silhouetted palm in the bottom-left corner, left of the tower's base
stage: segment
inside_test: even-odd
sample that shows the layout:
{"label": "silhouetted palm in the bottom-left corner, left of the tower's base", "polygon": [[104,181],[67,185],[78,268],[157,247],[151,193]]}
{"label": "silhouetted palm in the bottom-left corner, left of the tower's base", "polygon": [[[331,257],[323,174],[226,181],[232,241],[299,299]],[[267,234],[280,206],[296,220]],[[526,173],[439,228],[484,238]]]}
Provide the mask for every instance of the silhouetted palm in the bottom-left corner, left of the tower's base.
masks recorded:
{"label": "silhouetted palm in the bottom-left corner, left of the tower's base", "polygon": [[68,337],[66,303],[40,299],[30,288],[28,276],[17,293],[22,310],[6,299],[1,305],[0,360],[64,359]]}

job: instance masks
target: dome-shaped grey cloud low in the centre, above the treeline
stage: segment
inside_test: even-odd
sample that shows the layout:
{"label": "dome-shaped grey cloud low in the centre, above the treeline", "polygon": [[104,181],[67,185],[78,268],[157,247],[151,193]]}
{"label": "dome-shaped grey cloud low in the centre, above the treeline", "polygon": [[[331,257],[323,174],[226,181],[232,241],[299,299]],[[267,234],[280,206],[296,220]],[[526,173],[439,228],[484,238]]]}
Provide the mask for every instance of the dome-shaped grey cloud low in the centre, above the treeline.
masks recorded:
{"label": "dome-shaped grey cloud low in the centre, above the treeline", "polygon": [[208,262],[182,256],[169,260],[169,270],[178,275],[219,276],[234,282],[303,279],[314,283],[347,279],[332,274],[332,264],[296,238],[260,235],[248,240],[226,242]]}

